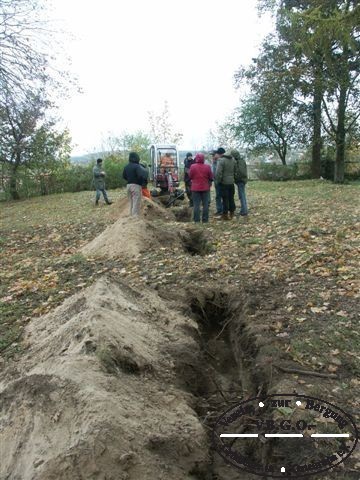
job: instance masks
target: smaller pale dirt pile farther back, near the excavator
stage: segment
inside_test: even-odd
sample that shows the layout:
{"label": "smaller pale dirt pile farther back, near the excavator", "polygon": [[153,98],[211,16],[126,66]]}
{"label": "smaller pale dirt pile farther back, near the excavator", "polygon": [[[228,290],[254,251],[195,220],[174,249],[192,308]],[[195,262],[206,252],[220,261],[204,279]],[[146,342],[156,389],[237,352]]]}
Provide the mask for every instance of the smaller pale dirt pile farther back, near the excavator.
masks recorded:
{"label": "smaller pale dirt pile farther back, near the excavator", "polygon": [[85,255],[134,258],[152,248],[181,246],[181,239],[174,228],[164,228],[154,220],[174,221],[174,215],[152,200],[144,199],[142,215],[130,217],[127,199],[118,205],[119,218],[99,236],[85,245]]}

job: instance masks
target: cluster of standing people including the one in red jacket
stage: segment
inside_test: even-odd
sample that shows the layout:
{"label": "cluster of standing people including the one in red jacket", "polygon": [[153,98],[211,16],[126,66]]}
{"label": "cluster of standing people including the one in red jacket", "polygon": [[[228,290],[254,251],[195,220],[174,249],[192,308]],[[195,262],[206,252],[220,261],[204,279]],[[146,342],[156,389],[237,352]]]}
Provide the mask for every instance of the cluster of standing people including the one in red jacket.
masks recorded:
{"label": "cluster of standing people including the one in red jacket", "polygon": [[[248,180],[245,159],[238,150],[225,151],[220,147],[212,153],[211,166],[205,163],[203,153],[187,153],[184,160],[185,189],[190,206],[194,207],[194,222],[209,221],[210,189],[215,184],[216,213],[222,220],[235,215],[235,186],[240,200],[238,215],[247,216],[245,186]],[[202,206],[202,213],[200,213]]]}

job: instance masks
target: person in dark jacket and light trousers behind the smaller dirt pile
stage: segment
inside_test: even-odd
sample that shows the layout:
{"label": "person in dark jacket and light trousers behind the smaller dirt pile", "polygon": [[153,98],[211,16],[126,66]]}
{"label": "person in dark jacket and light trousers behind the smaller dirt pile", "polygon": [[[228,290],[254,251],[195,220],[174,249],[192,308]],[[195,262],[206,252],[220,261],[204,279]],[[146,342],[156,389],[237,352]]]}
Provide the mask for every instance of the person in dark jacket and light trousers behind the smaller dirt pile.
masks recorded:
{"label": "person in dark jacket and light trousers behind the smaller dirt pile", "polygon": [[129,153],[129,163],[123,171],[123,178],[127,181],[127,194],[132,217],[140,215],[141,189],[147,184],[147,171],[140,165],[140,157],[136,152]]}

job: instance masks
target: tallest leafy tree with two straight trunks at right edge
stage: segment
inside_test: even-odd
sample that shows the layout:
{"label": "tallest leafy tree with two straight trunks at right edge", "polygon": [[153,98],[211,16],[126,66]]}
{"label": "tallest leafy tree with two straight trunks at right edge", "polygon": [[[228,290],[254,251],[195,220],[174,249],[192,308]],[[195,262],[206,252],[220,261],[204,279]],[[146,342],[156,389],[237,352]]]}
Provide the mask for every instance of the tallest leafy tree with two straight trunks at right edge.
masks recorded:
{"label": "tallest leafy tree with two straight trunks at right edge", "polygon": [[259,0],[273,10],[277,32],[302,66],[300,84],[312,98],[313,175],[320,173],[322,125],[336,145],[335,182],[344,180],[346,136],[359,115],[359,20],[357,0]]}

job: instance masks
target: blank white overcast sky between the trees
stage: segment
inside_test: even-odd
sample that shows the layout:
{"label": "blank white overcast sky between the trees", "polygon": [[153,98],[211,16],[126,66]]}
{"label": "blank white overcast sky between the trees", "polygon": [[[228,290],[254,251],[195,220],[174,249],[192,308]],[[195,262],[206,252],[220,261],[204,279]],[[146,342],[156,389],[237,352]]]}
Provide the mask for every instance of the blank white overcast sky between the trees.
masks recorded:
{"label": "blank white overcast sky between the trees", "polygon": [[[270,31],[256,0],[51,0],[51,15],[74,35],[64,44],[83,90],[60,110],[73,155],[102,140],[149,130],[149,110],[168,101],[184,135],[180,148],[207,144],[216,121],[236,106],[237,68]],[[215,146],[214,146],[215,147]]]}

